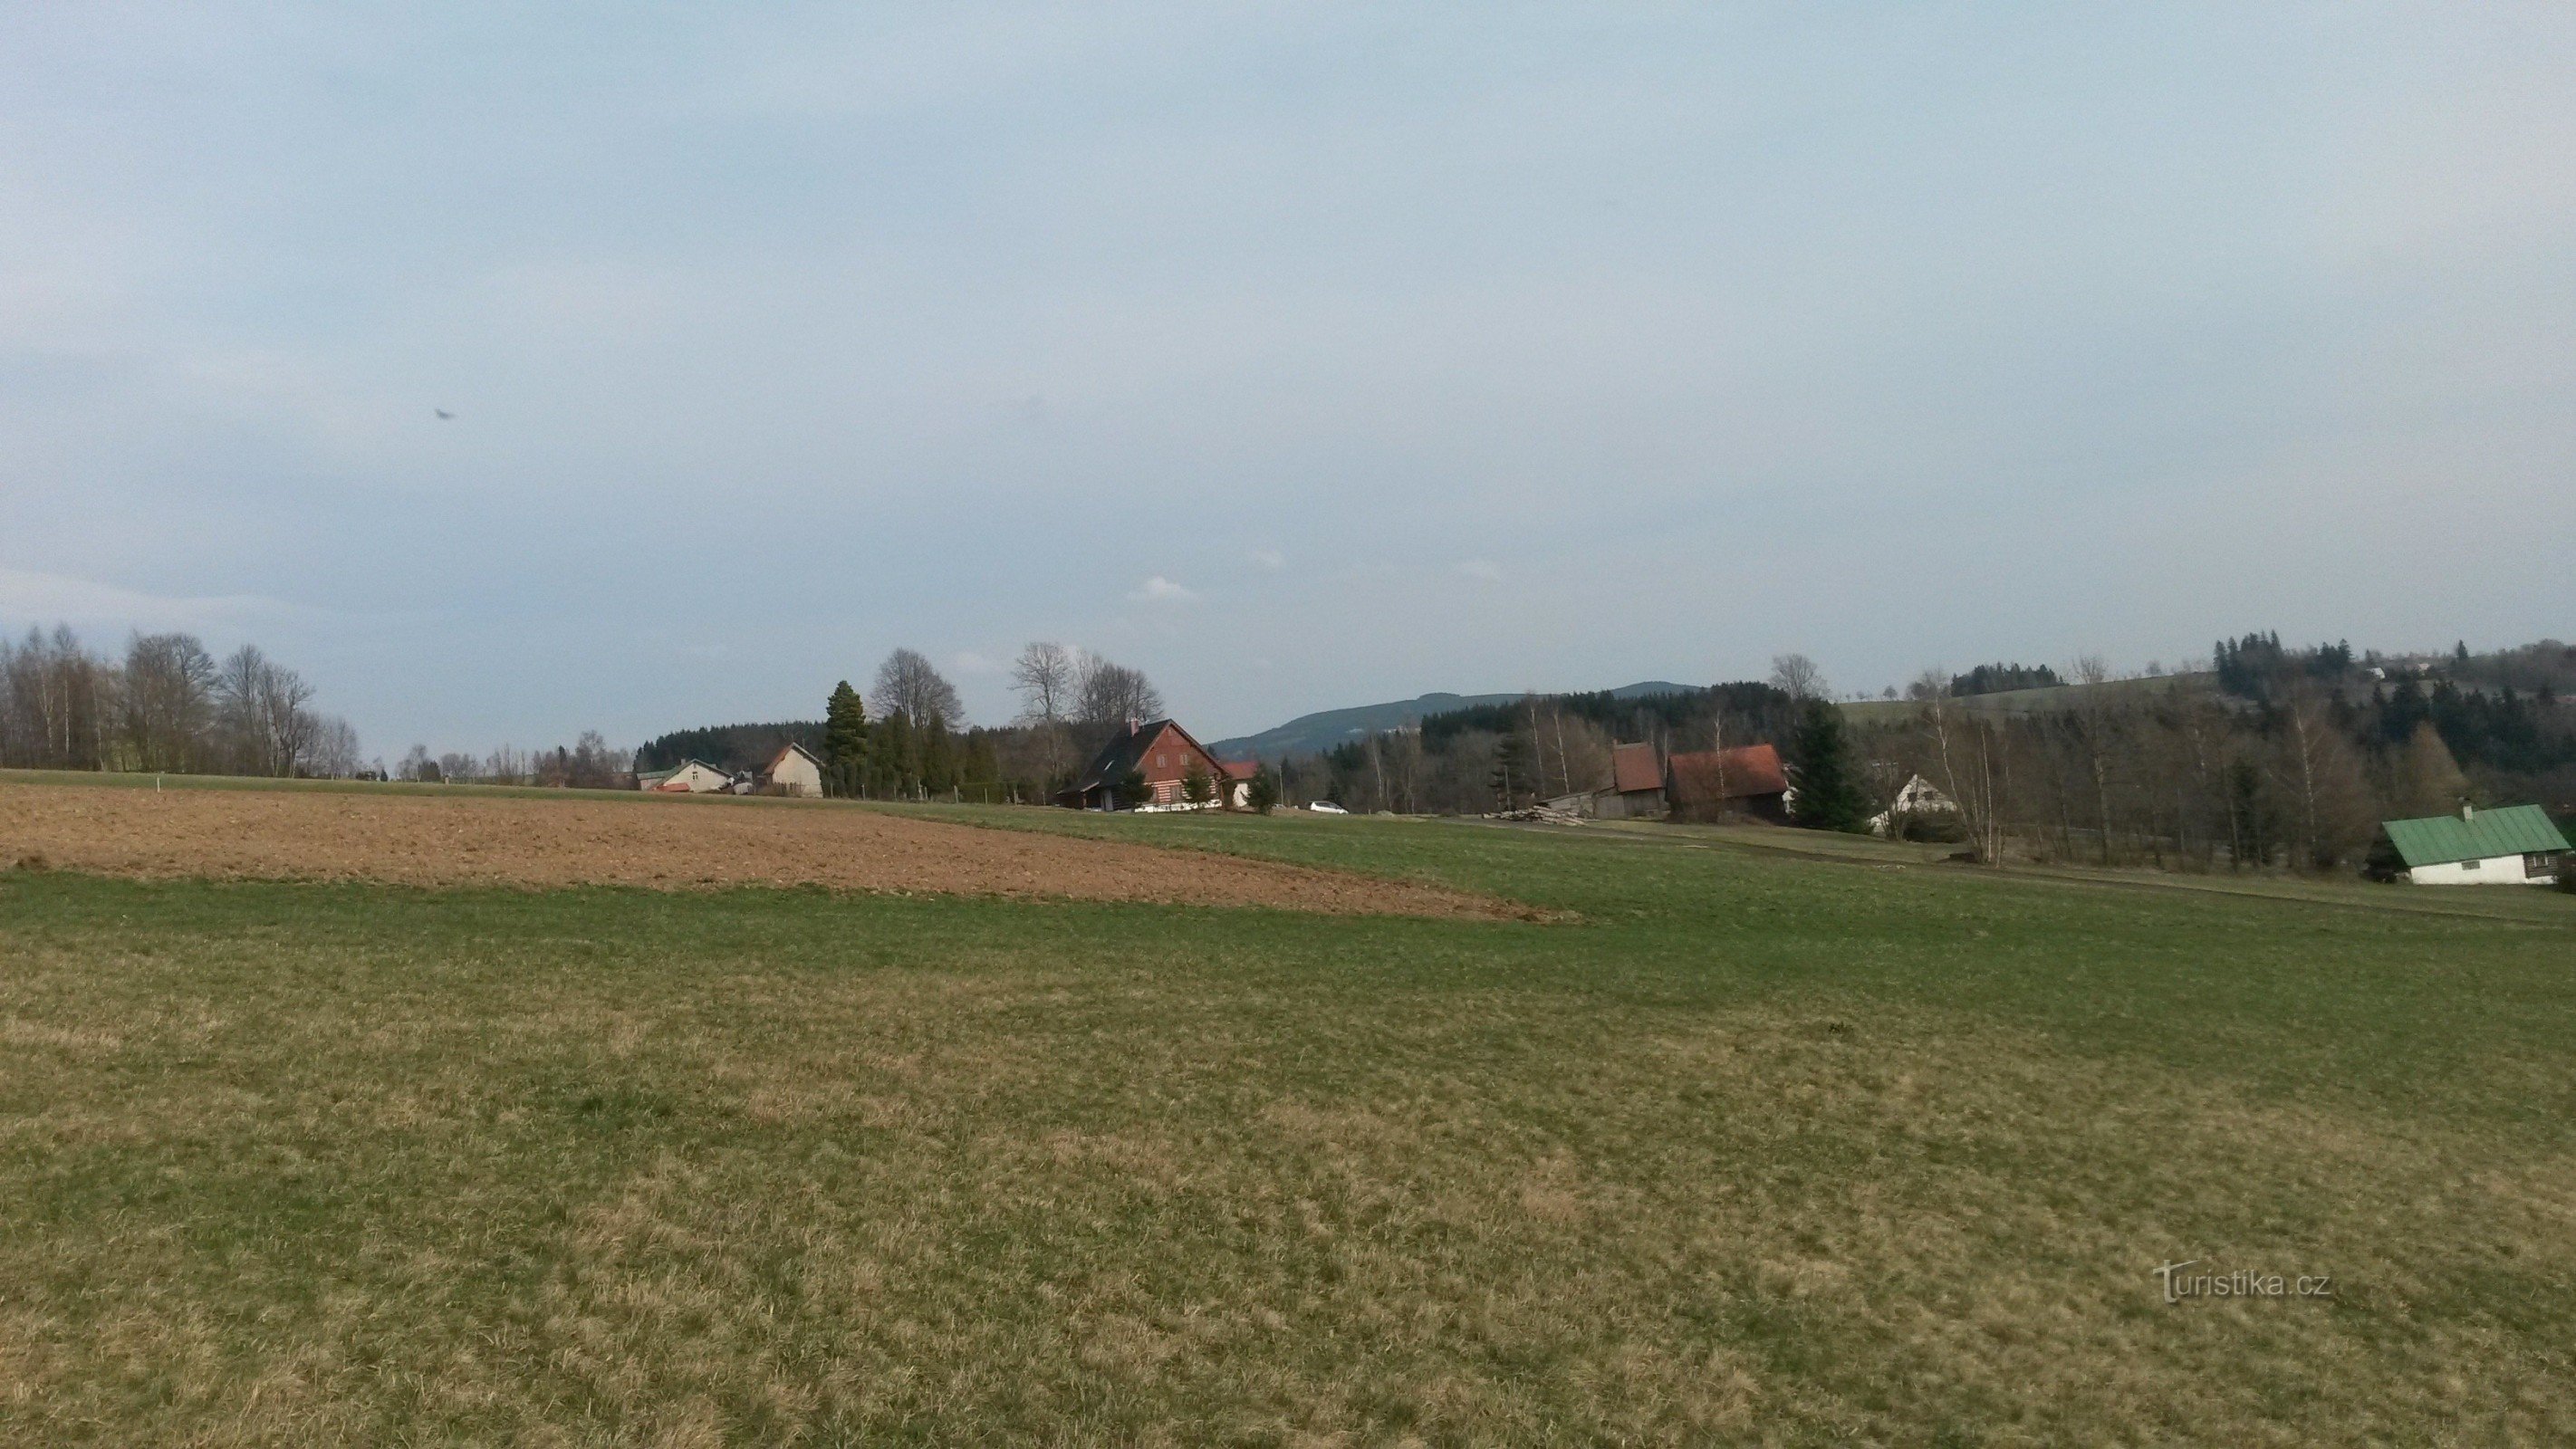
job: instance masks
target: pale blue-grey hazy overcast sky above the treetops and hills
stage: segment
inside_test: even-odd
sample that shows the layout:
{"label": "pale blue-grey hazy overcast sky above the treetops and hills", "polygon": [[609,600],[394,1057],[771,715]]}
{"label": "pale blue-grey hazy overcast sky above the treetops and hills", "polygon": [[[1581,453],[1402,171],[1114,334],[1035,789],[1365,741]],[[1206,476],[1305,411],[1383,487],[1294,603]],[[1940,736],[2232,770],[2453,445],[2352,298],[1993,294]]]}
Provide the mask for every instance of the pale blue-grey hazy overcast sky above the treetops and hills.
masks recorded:
{"label": "pale blue-grey hazy overcast sky above the treetops and hills", "polygon": [[0,625],[386,757],[2512,643],[2571,481],[2563,0],[0,8]]}

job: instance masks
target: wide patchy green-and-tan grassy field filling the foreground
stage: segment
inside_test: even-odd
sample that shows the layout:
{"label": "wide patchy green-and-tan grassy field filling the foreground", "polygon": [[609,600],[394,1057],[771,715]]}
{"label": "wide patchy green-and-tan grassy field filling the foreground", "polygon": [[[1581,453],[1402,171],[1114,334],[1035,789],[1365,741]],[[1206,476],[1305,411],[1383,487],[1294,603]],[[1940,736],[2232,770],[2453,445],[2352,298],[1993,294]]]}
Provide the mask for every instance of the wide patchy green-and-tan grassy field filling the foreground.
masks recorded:
{"label": "wide patchy green-and-tan grassy field filling the foreground", "polygon": [[0,872],[0,1441],[2576,1439],[2576,898],[938,818],[1564,919]]}

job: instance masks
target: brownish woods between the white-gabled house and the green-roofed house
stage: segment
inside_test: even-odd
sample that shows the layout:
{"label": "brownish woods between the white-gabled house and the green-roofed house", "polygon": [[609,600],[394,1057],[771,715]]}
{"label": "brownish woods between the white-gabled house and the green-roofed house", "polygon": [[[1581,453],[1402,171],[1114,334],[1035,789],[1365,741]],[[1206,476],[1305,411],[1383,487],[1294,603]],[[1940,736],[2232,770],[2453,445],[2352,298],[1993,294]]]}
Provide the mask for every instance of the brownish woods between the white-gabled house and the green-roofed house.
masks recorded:
{"label": "brownish woods between the white-gabled house and the green-roofed house", "polygon": [[[2576,664],[2576,649],[2545,646]],[[2112,682],[2050,708],[1973,708],[1927,674],[1909,718],[1865,731],[1888,775],[1922,772],[1984,860],[2007,852],[2184,870],[2357,865],[2388,818],[2463,803],[2576,808],[2576,710],[2450,661],[2391,664],[2349,643],[2221,641],[2213,669]],[[1924,829],[1942,829],[1922,821]]]}

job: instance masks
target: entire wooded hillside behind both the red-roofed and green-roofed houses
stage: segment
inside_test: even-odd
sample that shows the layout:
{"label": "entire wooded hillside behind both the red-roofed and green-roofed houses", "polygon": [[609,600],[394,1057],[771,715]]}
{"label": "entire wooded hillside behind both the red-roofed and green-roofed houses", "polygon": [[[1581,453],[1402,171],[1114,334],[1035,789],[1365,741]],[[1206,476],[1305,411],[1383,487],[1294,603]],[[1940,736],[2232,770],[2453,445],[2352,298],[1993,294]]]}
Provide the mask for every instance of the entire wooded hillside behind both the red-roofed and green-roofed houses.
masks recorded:
{"label": "entire wooded hillside behind both the red-roofed and green-roofed houses", "polygon": [[[1870,705],[1839,749],[1870,813],[1922,775],[1960,803],[1911,829],[1978,854],[2107,865],[2344,867],[2378,821],[2460,803],[2576,813],[2576,649],[2439,656],[2293,649],[2277,633],[2221,641],[2205,669],[2120,687],[2097,661],[2066,672],[1989,664],[1927,672],[1904,705]],[[1981,708],[1999,690],[2014,710]],[[1283,767],[1288,798],[1358,811],[1517,808],[1610,782],[1610,746],[1662,754],[1775,744],[1803,759],[1801,703],[1826,695],[1783,656],[1767,682],[1643,700],[1530,695],[1430,715]],[[1893,710],[1893,715],[1891,715]],[[1857,713],[1857,710],[1855,710]]]}

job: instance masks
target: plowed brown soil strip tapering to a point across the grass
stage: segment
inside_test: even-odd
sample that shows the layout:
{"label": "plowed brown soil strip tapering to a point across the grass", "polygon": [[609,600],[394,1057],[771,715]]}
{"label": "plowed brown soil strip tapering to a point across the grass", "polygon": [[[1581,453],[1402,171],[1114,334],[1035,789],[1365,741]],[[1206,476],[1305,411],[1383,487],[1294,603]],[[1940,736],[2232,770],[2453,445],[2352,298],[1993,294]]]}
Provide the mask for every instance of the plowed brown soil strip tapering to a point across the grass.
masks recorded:
{"label": "plowed brown soil strip tapering to a point across the grass", "polygon": [[397,885],[827,885],[1530,916],[1520,906],[1296,865],[951,826],[840,806],[417,798],[340,790],[0,785],[0,867]]}

